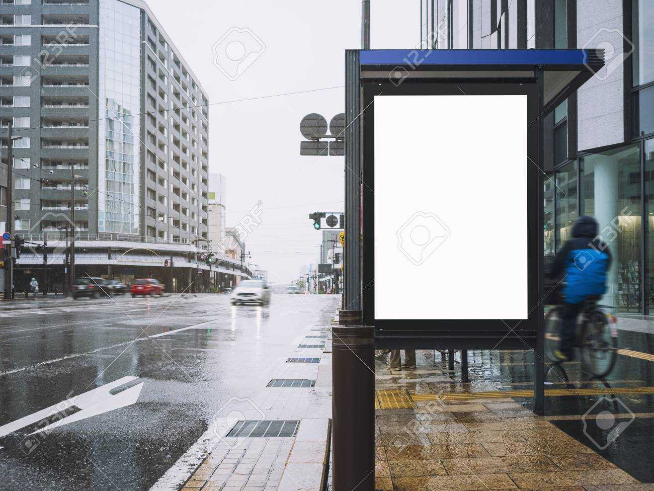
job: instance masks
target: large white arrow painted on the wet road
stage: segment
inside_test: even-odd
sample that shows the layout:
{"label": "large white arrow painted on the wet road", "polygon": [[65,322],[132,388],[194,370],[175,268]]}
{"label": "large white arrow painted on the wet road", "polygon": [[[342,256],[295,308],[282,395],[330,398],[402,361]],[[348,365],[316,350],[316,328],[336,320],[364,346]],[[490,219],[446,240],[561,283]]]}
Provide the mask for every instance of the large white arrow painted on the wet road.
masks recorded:
{"label": "large white arrow painted on the wet road", "polygon": [[[0,426],[0,437],[9,435],[9,433],[13,433],[16,430],[20,430],[20,428],[25,428],[26,426],[30,426],[31,424],[43,420],[43,418],[47,418],[49,416],[55,415],[73,406],[79,407],[80,409],[82,409],[82,411],[78,411],[74,415],[67,416],[59,420],[58,422],[50,424],[45,428],[41,428],[40,430],[34,433],[43,432],[44,430],[50,430],[52,428],[56,428],[57,426],[63,426],[64,424],[69,424],[74,421],[82,420],[84,418],[90,418],[90,416],[100,415],[102,413],[108,413],[109,411],[113,411],[114,409],[118,409],[120,407],[125,407],[130,404],[133,404],[139,399],[139,394],[141,394],[141,389],[143,388],[144,382],[141,382],[140,384],[137,384],[129,388],[128,390],[119,392],[115,396],[112,396],[109,393],[109,391],[113,390],[116,387],[120,387],[128,382],[135,381],[138,378],[139,377],[122,377],[122,379],[109,382],[109,384],[105,384],[98,388],[89,390],[88,392],[84,392],[79,396],[66,399],[65,401],[61,401],[60,403],[54,404],[50,407],[46,407],[45,409],[41,409],[41,411],[37,411],[36,413],[33,413],[29,416],[25,416],[24,418],[20,418],[16,421],[5,424],[4,426]],[[34,433],[31,434],[33,435]]]}

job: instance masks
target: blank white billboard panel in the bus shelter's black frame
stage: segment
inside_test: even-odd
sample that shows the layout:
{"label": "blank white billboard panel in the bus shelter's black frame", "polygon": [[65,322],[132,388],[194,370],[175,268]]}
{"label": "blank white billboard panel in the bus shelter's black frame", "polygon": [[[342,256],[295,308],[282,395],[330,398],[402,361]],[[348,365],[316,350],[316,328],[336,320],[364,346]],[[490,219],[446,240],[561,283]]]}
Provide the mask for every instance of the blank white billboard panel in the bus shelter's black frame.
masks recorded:
{"label": "blank white billboard panel in the bus shelter's black frame", "polygon": [[527,96],[374,105],[375,318],[526,319]]}

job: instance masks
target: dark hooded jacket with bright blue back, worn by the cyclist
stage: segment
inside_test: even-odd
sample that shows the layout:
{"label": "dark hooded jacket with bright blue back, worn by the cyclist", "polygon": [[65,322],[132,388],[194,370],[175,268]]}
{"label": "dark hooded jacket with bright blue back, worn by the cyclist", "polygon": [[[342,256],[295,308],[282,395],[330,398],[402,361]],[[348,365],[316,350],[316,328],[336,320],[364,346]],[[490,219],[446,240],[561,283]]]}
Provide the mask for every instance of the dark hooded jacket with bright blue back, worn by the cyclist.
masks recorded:
{"label": "dark hooded jacket with bright blue back, worn by the cyclist", "polygon": [[608,245],[597,235],[598,225],[592,216],[580,216],[572,226],[572,239],[557,252],[550,277],[563,274],[567,303],[582,303],[587,297],[604,295],[606,272],[611,265]]}

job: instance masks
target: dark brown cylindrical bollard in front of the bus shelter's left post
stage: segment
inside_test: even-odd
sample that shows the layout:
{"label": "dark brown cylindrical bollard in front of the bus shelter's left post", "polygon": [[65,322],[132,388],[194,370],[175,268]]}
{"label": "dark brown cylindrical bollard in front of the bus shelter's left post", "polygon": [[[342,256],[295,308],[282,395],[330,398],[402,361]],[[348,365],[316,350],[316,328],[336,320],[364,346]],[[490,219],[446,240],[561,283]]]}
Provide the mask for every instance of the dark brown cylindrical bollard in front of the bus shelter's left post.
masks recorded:
{"label": "dark brown cylindrical bollard in front of the bus shelter's left post", "polygon": [[361,311],[341,311],[332,335],[335,490],[375,489],[375,341]]}

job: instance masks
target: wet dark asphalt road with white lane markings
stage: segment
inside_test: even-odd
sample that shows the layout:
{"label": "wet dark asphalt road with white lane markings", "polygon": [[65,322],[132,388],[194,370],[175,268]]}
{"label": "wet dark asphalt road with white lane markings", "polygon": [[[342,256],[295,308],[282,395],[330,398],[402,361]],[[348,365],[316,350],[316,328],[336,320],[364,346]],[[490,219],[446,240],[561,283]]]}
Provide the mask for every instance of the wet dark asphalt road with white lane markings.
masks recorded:
{"label": "wet dark asphalt road with white lane markings", "polygon": [[149,489],[226,401],[267,384],[332,305],[335,296],[284,295],[270,307],[232,307],[226,295],[0,302],[0,489]]}

